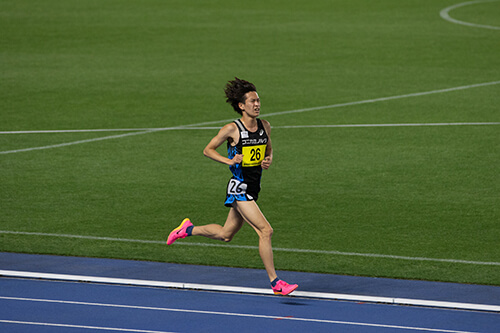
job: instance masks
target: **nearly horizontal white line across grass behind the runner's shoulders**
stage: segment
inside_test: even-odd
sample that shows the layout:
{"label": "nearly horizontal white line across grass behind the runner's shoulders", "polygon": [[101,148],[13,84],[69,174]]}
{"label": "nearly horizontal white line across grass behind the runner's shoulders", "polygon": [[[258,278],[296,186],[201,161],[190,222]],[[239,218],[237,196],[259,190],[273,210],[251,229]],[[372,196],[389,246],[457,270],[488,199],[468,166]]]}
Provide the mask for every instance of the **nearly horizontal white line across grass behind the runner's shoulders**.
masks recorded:
{"label": "nearly horizontal white line across grass behind the runner's shoulders", "polygon": [[[272,128],[342,128],[342,127],[425,127],[425,126],[492,126],[500,122],[454,122],[454,123],[401,123],[401,124],[322,124],[322,125],[283,125]],[[220,126],[205,127],[173,127],[171,130],[218,130]],[[54,133],[94,133],[94,132],[139,132],[166,131],[165,128],[110,128],[110,129],[76,129],[76,130],[40,130],[40,131],[0,131],[0,134],[54,134]]]}

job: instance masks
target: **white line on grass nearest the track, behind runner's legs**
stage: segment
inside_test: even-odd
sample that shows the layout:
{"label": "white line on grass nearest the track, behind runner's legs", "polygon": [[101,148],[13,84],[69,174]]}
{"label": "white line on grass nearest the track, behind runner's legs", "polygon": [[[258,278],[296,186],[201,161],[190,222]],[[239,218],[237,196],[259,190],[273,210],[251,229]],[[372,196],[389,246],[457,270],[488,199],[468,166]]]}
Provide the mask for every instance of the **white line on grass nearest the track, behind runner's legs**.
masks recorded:
{"label": "white line on grass nearest the track, behind runner's legs", "polygon": [[[25,235],[25,236],[42,236],[42,237],[60,237],[60,238],[74,238],[74,239],[89,239],[89,240],[102,240],[112,242],[127,242],[127,243],[142,243],[142,244],[165,244],[165,241],[154,240],[140,240],[140,239],[127,239],[127,238],[112,238],[112,237],[97,237],[97,236],[82,236],[82,235],[68,235],[68,234],[53,234],[41,232],[25,232],[25,231],[10,231],[0,230],[0,234],[10,235]],[[248,249],[258,250],[258,246],[252,245],[233,245],[233,244],[217,244],[217,243],[195,243],[195,242],[176,242],[175,246],[201,246],[201,247],[219,247],[226,249]],[[357,256],[367,258],[383,258],[383,259],[396,259],[396,260],[409,260],[409,261],[432,261],[432,262],[446,262],[453,264],[469,264],[469,265],[485,265],[485,266],[500,266],[500,262],[490,261],[472,261],[460,259],[439,259],[439,258],[425,258],[425,257],[410,257],[410,256],[397,256],[388,254],[376,253],[357,253],[357,252],[341,252],[341,251],[326,251],[326,250],[309,250],[309,249],[294,249],[294,248],[280,248],[273,247],[273,251],[289,252],[289,253],[313,253],[313,254],[326,254],[337,256]]]}

